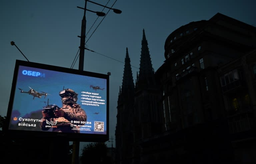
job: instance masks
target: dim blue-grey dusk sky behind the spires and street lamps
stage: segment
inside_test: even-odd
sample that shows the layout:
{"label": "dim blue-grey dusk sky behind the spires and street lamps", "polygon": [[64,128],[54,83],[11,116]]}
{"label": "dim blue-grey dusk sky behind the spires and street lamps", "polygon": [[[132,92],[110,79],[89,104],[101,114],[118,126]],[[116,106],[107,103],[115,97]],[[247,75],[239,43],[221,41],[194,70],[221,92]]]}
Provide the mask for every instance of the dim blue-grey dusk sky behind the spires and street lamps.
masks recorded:
{"label": "dim blue-grey dusk sky behind the spires and street lamps", "polygon": [[[115,14],[112,10],[106,8],[103,10],[103,7],[87,2],[87,9],[103,10],[107,14],[105,18],[98,18],[95,13],[86,11],[86,33],[89,32],[86,36],[86,47],[97,53],[85,50],[84,70],[102,74],[111,72],[109,138],[111,136],[115,138],[117,98],[119,86],[122,85],[124,71],[122,62],[125,59],[126,47],[135,82],[136,72],[139,71],[143,29],[148,41],[152,65],[156,71],[165,60],[166,38],[183,25],[193,21],[209,20],[219,12],[256,27],[255,0],[94,0],[93,2],[102,5],[108,3],[108,7],[114,4],[113,8],[122,10],[121,14]],[[84,5],[84,0],[0,1],[1,116],[7,114],[15,61],[26,60],[10,42],[14,41],[31,62],[70,68],[80,46],[80,38],[77,36],[81,35],[81,20],[84,14],[84,10],[77,6],[84,7]],[[78,63],[79,59],[73,69],[78,69]],[[111,146],[111,142],[106,143],[108,147]],[[80,149],[84,144],[80,143]],[[115,146],[115,142],[113,145]]]}

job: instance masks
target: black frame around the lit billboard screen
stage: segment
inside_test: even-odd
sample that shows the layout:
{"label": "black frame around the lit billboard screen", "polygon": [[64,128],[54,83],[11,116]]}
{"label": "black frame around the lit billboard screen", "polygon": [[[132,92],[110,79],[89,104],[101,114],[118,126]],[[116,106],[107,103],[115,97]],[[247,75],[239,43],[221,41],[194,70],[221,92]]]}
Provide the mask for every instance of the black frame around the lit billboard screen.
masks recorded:
{"label": "black frame around the lit billboard screen", "polygon": [[[31,131],[31,130],[17,130],[17,129],[9,129],[9,125],[11,122],[11,114],[13,110],[14,104],[14,97],[15,97],[15,90],[18,78],[18,69],[19,66],[27,66],[39,69],[45,69],[50,71],[58,71],[63,73],[70,73],[82,76],[89,76],[89,77],[97,77],[106,79],[106,134],[90,134],[90,133],[66,133],[66,132],[49,132],[49,131]],[[65,139],[69,141],[82,141],[82,142],[106,142],[109,140],[109,74],[101,74],[89,71],[81,71],[77,69],[59,67],[54,65],[42,64],[42,63],[35,63],[35,62],[28,62],[23,60],[16,60],[14,74],[13,74],[13,81],[10,93],[10,99],[8,104],[7,116],[6,116],[6,124],[5,124],[6,136],[9,138],[14,139],[36,139],[36,138],[59,138]]]}

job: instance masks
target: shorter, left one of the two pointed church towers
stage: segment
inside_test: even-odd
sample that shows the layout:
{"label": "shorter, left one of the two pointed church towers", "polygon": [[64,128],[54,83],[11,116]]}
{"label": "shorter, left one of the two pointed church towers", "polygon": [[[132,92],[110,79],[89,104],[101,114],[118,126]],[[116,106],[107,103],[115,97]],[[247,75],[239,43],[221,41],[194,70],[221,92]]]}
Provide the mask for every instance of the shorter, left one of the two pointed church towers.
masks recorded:
{"label": "shorter, left one of the two pointed church towers", "polygon": [[116,125],[116,160],[117,163],[131,163],[133,145],[134,118],[134,82],[128,48],[124,64],[122,87],[119,87]]}

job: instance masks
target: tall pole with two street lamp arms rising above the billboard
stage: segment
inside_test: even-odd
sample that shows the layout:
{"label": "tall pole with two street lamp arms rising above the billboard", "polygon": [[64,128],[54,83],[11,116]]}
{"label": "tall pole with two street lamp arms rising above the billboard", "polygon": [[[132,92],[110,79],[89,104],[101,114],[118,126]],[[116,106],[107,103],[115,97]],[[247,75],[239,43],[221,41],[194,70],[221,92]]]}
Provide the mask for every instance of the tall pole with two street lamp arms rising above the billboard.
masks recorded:
{"label": "tall pole with two street lamp arms rising above the billboard", "polygon": [[117,14],[121,14],[121,13],[122,13],[121,10],[113,9],[113,8],[110,8],[110,7],[107,7],[107,6],[104,6],[104,5],[98,4],[98,3],[96,3],[96,2],[89,1],[89,0],[85,0],[84,8],[77,6],[77,8],[84,9],[84,16],[83,16],[83,19],[82,19],[82,27],[81,27],[81,36],[78,36],[78,37],[80,38],[80,54],[79,54],[79,66],[78,66],[78,67],[79,67],[79,70],[81,70],[81,71],[84,70],[85,29],[86,29],[86,17],[85,17],[85,12],[86,12],[86,10],[87,10],[87,11],[96,13],[96,14],[97,14],[98,16],[100,16],[100,17],[106,15],[106,14],[103,13],[103,12],[92,11],[92,10],[86,9],[87,1],[88,1],[88,2],[91,2],[91,3],[94,3],[94,4],[96,4],[96,5],[103,6],[103,7],[105,7],[105,8],[111,9],[111,10],[114,11],[114,13],[117,13]]}

